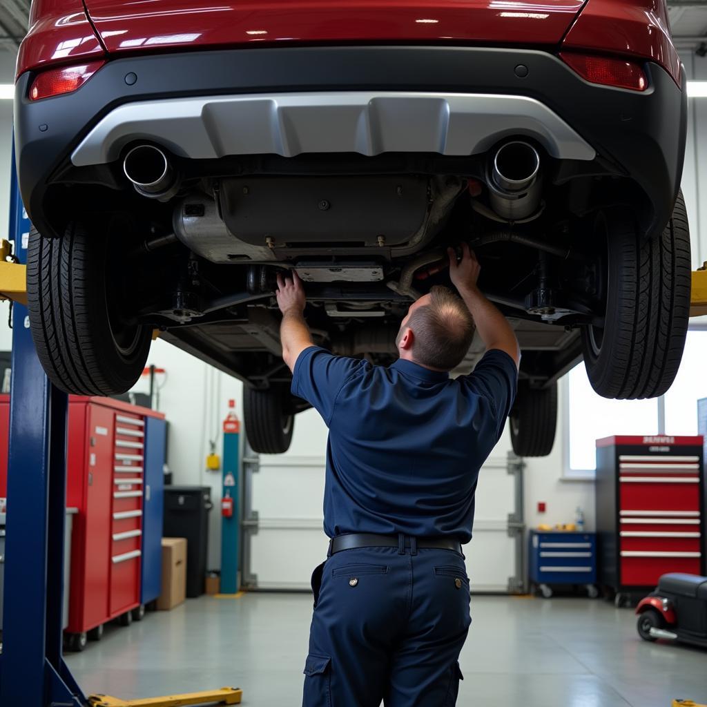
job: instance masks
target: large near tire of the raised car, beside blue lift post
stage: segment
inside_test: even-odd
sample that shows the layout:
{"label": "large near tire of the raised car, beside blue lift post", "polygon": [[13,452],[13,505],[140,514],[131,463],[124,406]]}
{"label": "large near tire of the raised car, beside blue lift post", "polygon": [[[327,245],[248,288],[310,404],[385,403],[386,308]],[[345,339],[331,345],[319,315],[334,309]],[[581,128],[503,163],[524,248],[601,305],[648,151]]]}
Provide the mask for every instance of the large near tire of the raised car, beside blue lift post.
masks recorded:
{"label": "large near tire of the raised car, beside blue lift post", "polygon": [[76,395],[129,390],[150,350],[150,329],[120,315],[120,254],[109,252],[110,240],[110,233],[90,233],[78,221],[62,238],[30,233],[27,299],[37,356],[49,380]]}

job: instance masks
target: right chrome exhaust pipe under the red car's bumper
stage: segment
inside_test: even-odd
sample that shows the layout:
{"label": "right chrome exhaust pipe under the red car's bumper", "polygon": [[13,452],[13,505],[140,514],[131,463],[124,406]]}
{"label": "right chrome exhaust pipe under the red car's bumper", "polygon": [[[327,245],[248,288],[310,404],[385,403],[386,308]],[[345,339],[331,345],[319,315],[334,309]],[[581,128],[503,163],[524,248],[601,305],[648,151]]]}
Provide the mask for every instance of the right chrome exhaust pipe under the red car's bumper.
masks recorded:
{"label": "right chrome exhaust pipe under the red car's bumper", "polygon": [[522,140],[507,142],[493,155],[489,168],[491,207],[508,221],[532,216],[540,203],[540,156]]}

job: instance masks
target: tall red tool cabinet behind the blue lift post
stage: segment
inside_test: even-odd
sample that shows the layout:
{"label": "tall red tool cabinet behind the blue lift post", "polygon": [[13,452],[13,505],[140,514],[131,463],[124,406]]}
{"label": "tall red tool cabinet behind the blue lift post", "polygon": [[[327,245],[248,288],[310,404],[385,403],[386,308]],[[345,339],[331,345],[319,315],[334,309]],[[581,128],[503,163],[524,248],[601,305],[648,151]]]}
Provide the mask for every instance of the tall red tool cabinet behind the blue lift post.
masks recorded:
{"label": "tall red tool cabinet behind the blue lift post", "polygon": [[[7,430],[9,396],[0,396]],[[68,633],[85,633],[139,607],[145,419],[156,411],[103,397],[69,396],[66,506],[71,540]],[[7,434],[0,434],[7,445]],[[1,454],[0,496],[7,457]],[[11,503],[11,501],[10,501]]]}

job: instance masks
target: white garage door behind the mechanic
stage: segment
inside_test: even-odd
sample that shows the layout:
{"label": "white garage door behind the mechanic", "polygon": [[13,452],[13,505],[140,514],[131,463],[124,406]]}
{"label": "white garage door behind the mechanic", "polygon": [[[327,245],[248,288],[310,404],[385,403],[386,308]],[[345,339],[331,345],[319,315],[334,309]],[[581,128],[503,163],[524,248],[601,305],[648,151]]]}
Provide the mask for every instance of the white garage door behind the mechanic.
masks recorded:
{"label": "white garage door behind the mechanic", "polygon": [[[326,440],[325,424],[308,410],[297,416],[286,454],[247,455],[252,461],[244,470],[246,587],[307,589],[312,569],[326,558]],[[508,447],[506,433],[479,477],[474,539],[464,548],[475,592],[522,587],[522,465],[515,460],[509,467]]]}

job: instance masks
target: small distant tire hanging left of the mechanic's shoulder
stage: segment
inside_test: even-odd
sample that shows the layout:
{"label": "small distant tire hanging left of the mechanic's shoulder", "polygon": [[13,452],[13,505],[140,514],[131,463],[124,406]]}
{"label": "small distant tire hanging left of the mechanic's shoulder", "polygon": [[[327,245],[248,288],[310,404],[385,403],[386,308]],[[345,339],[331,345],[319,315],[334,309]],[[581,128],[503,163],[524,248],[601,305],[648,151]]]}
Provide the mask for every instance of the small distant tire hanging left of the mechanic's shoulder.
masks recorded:
{"label": "small distant tire hanging left of the mechanic's shoulder", "polygon": [[243,392],[245,433],[254,452],[282,454],[290,448],[295,426],[291,395],[284,386]]}

